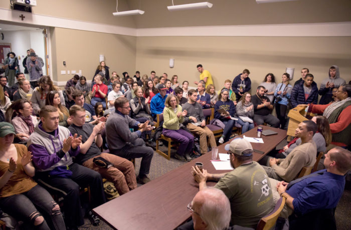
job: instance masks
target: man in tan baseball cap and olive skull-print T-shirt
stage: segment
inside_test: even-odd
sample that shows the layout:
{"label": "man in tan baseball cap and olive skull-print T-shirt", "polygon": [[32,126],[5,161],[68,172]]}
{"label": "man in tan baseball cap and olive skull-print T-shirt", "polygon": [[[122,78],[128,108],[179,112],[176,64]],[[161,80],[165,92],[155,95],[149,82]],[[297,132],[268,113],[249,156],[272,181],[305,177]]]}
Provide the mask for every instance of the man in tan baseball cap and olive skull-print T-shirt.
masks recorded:
{"label": "man in tan baseball cap and olive skull-print T-shirt", "polygon": [[259,220],[274,208],[273,194],[268,175],[263,167],[252,161],[253,149],[249,141],[235,138],[225,146],[233,171],[221,174],[208,173],[192,167],[199,189],[207,187],[206,180],[216,180],[216,188],[229,198],[231,225],[256,228]]}

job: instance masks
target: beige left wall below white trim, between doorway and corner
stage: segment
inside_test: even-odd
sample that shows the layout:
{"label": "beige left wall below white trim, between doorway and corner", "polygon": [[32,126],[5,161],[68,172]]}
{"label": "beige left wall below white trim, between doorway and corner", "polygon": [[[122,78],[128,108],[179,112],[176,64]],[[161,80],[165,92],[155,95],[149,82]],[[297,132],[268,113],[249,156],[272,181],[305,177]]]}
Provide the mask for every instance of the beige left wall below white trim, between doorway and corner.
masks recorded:
{"label": "beige left wall below white trim, between doorway and corner", "polygon": [[[61,74],[61,70],[81,69],[88,80],[93,78],[99,64],[99,54],[105,55],[110,71],[133,72],[135,69],[136,37],[110,33],[90,32],[75,29],[53,28],[52,60],[53,80],[66,81],[72,74]],[[66,66],[63,65],[66,61]]]}

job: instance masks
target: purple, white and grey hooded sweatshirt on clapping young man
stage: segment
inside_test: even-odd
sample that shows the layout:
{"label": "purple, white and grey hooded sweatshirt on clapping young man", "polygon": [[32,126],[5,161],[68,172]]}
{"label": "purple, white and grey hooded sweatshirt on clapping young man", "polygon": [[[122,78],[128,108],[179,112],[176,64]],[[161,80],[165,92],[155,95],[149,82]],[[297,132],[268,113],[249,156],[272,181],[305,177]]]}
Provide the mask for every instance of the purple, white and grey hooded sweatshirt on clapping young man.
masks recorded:
{"label": "purple, white and grey hooded sweatshirt on clapping young man", "polygon": [[40,122],[30,135],[27,146],[32,151],[33,163],[37,171],[51,171],[57,166],[65,166],[73,163],[72,156],[79,153],[80,147],[70,148],[68,152],[62,150],[63,140],[72,136],[68,128],[58,126],[54,135],[46,132]]}

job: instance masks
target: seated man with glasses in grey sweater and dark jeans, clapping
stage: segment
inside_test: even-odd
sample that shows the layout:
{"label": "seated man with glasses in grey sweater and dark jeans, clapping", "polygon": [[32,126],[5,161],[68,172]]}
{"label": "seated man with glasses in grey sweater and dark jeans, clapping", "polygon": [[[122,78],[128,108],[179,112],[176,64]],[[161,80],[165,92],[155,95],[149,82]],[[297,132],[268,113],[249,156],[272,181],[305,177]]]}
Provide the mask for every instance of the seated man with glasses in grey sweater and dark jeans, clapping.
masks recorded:
{"label": "seated man with glasses in grey sweater and dark jeans, clapping", "polygon": [[[118,97],[114,102],[115,112],[113,112],[106,122],[106,140],[110,153],[132,159],[142,157],[139,175],[136,177],[138,183],[144,184],[150,181],[147,174],[150,171],[153,149],[145,146],[141,132],[150,131],[153,127],[149,125],[149,120],[140,123],[129,117],[130,105],[125,97]],[[129,128],[139,128],[131,132]]]}

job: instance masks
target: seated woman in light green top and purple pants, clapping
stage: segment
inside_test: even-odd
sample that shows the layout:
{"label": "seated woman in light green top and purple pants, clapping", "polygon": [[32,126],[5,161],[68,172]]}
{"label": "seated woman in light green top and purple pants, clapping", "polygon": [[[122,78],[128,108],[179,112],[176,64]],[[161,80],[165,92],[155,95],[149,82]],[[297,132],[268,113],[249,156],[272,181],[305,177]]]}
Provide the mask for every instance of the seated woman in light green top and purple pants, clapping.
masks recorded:
{"label": "seated woman in light green top and purple pants, clapping", "polygon": [[193,150],[194,136],[190,132],[180,128],[180,123],[184,121],[187,110],[182,112],[182,106],[174,94],[169,94],[164,102],[163,109],[163,131],[162,134],[180,142],[177,153],[174,157],[181,161],[190,161],[192,158],[189,152]]}

